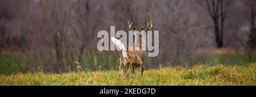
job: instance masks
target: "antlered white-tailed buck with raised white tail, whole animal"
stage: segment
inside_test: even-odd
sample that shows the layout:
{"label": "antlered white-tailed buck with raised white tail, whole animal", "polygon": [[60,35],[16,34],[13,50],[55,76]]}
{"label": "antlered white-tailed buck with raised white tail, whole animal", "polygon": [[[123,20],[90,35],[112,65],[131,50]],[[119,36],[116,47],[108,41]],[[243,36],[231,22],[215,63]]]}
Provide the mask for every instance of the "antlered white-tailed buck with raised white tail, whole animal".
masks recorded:
{"label": "antlered white-tailed buck with raised white tail, whole animal", "polygon": [[[150,23],[147,22],[147,28],[146,29],[141,28],[140,31],[138,31],[135,28],[132,29],[131,28],[132,25],[133,23],[128,22],[129,30],[132,31],[133,34],[135,35],[133,47],[125,48],[125,47],[118,46],[118,45],[121,45],[122,43],[119,43],[120,41],[115,39],[114,37],[112,38],[112,41],[115,43],[115,45],[117,45],[118,48],[122,48],[119,70],[122,73],[126,73],[127,69],[130,68],[131,73],[133,73],[134,75],[135,74],[134,69],[137,67],[141,67],[141,74],[143,74],[143,71],[145,68],[144,66],[146,64],[146,57],[147,57],[146,47],[144,47],[143,45],[143,44],[146,44],[146,39],[144,39],[144,36],[146,36],[146,31],[152,29],[152,23],[151,21]],[[129,66],[127,64],[129,64]]]}

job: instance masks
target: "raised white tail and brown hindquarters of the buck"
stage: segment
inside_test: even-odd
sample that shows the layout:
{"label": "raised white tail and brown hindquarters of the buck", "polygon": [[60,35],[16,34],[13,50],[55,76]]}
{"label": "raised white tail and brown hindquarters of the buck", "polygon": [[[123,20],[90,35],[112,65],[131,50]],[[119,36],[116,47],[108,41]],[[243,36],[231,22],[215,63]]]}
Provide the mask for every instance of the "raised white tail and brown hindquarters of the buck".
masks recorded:
{"label": "raised white tail and brown hindquarters of the buck", "polygon": [[141,57],[139,57],[139,54],[133,50],[133,47],[126,47],[122,41],[115,39],[115,37],[111,37],[111,40],[119,49],[121,49],[119,69],[123,74],[126,74],[127,70],[130,69],[131,74],[135,77],[134,68],[143,66]]}

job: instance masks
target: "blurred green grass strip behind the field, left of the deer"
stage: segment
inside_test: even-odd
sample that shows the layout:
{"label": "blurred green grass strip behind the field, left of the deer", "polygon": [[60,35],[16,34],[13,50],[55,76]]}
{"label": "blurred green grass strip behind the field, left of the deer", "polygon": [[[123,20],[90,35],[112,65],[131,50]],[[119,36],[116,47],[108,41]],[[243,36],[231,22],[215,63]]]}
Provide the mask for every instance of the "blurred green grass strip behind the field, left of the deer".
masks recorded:
{"label": "blurred green grass strip behind the field, left of the deer", "polygon": [[[52,58],[49,58],[49,56]],[[73,58],[75,60],[78,60],[78,57],[78,54],[73,54]],[[101,70],[98,68],[99,66],[102,66],[104,69],[117,69],[118,65],[113,64],[117,64],[118,58],[119,56],[115,57],[113,54],[109,53],[93,53],[91,56],[90,54],[83,54],[81,65],[86,71]],[[68,64],[67,58],[63,58],[65,70],[69,69],[69,65],[76,65],[75,60],[73,60],[72,64]],[[49,62],[51,62],[51,64],[49,64]],[[52,66],[54,62],[56,62],[56,55],[50,53],[46,53],[41,56],[26,53],[0,54],[0,74],[8,75],[20,71],[35,72],[41,70],[42,68],[48,68],[49,65]]]}

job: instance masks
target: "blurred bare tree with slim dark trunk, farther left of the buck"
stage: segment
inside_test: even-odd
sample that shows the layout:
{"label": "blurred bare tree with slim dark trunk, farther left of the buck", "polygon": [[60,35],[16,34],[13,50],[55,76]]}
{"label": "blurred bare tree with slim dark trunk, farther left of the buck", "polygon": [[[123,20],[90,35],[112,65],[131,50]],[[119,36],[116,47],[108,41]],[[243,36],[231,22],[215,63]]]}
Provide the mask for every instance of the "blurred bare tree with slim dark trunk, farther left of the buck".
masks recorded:
{"label": "blurred bare tree with slim dark trunk, farther left of the buck", "polygon": [[[71,18],[71,1],[40,1],[45,11],[45,27],[46,33],[53,41],[53,48],[56,52],[56,70],[59,73],[64,71],[63,53],[64,40],[68,31],[68,23]],[[51,43],[51,41],[49,41]]]}

